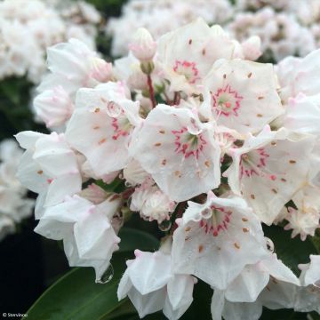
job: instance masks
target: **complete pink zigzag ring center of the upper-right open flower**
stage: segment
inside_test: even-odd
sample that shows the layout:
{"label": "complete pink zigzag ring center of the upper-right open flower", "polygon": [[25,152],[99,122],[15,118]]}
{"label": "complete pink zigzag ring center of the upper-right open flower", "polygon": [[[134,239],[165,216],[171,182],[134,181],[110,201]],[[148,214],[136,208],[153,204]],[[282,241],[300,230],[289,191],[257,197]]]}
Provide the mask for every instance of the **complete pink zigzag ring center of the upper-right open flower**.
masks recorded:
{"label": "complete pink zigzag ring center of the upper-right open flower", "polygon": [[237,109],[240,108],[240,101],[243,99],[227,84],[225,87],[218,89],[217,92],[212,93],[212,108],[216,110],[219,116],[238,116]]}

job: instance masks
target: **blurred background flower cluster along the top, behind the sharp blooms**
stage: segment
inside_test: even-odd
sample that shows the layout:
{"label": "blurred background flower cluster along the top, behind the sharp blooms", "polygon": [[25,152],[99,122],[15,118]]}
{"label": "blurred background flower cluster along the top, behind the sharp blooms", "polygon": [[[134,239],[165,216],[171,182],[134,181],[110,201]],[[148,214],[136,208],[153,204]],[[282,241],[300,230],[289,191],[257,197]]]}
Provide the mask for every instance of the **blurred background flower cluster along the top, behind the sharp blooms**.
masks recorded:
{"label": "blurred background flower cluster along the top, behind the sharp blooms", "polygon": [[[282,12],[278,12],[281,10]],[[320,4],[317,0],[219,1],[131,0],[120,18],[108,22],[112,54],[127,53],[136,28],[148,28],[156,39],[195,17],[218,23],[237,40],[260,36],[265,60],[305,56],[320,44]]]}

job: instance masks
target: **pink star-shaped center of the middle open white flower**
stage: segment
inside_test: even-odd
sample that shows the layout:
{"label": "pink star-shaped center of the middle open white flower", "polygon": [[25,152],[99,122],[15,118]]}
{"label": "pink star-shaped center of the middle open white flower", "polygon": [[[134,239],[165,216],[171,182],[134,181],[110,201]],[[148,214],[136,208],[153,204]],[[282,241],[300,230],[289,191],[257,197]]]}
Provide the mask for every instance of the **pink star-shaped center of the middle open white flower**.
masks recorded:
{"label": "pink star-shaped center of the middle open white flower", "polygon": [[192,134],[188,132],[186,127],[181,128],[180,131],[172,130],[175,136],[175,152],[182,153],[185,158],[189,156],[195,156],[196,159],[199,157],[199,153],[203,150],[206,141],[203,135]]}

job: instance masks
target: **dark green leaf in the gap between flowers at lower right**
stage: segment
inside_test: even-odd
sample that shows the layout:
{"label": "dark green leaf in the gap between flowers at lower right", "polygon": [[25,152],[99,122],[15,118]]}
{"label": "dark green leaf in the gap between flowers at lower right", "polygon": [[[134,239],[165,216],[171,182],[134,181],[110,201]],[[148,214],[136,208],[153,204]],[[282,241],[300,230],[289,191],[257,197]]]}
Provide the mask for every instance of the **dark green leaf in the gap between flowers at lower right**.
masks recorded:
{"label": "dark green leaf in the gap between flowers at lower right", "polygon": [[271,226],[264,228],[265,236],[268,236],[275,244],[275,252],[284,264],[291,268],[299,276],[298,264],[308,263],[309,255],[316,254],[316,247],[308,239],[301,241],[299,236],[291,237],[291,231],[284,228]]}

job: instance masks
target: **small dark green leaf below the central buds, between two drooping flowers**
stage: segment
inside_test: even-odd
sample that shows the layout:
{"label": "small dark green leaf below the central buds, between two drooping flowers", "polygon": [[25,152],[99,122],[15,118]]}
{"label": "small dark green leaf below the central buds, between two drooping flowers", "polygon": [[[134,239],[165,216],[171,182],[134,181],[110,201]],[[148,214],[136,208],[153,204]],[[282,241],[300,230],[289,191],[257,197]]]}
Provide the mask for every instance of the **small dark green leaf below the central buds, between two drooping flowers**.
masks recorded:
{"label": "small dark green leaf below the central buds, between two drooping flowers", "polygon": [[121,238],[120,252],[130,252],[135,249],[152,252],[159,248],[159,240],[155,236],[138,229],[121,228],[119,236]]}

